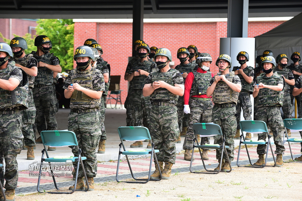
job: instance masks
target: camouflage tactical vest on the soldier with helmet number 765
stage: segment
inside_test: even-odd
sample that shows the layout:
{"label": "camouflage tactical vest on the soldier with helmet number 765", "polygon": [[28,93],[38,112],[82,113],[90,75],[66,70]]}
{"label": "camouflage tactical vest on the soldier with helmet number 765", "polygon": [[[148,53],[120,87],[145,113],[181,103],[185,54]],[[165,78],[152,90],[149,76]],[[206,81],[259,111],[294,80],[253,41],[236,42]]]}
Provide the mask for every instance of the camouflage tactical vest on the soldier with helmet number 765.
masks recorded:
{"label": "camouflage tactical vest on the soldier with helmet number 765", "polygon": [[[144,61],[142,63],[140,61],[137,61],[133,63],[133,73],[139,69],[151,73],[151,65],[153,63],[154,62],[150,62],[150,61]],[[132,79],[133,89],[143,89],[146,83],[146,79],[147,76],[145,75],[133,76]]]}

